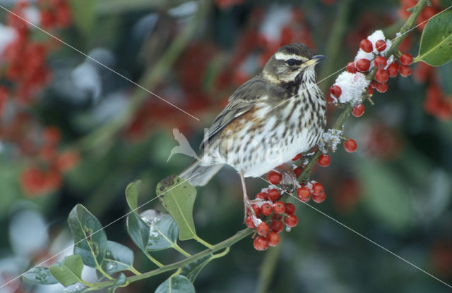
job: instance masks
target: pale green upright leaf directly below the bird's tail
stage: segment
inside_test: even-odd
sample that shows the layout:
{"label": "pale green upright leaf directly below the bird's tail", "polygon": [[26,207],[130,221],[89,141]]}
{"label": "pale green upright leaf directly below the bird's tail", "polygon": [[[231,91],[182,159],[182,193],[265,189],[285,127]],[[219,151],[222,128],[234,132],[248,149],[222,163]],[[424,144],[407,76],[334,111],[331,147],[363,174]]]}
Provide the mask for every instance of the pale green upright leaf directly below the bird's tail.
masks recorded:
{"label": "pale green upright leaf directly below the bird's tail", "polygon": [[196,189],[181,177],[172,175],[158,183],[157,197],[176,221],[179,227],[179,239],[195,238],[193,206]]}

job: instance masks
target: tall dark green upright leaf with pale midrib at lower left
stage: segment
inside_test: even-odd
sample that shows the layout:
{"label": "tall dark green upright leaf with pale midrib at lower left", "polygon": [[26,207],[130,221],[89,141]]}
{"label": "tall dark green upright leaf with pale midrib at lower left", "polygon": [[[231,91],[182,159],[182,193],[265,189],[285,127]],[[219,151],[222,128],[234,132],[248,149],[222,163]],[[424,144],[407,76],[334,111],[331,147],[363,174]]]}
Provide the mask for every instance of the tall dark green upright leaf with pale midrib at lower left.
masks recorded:
{"label": "tall dark green upright leaf with pale midrib at lower left", "polygon": [[99,220],[78,204],[69,213],[68,223],[75,243],[73,253],[80,254],[86,266],[100,266],[107,251],[107,235]]}

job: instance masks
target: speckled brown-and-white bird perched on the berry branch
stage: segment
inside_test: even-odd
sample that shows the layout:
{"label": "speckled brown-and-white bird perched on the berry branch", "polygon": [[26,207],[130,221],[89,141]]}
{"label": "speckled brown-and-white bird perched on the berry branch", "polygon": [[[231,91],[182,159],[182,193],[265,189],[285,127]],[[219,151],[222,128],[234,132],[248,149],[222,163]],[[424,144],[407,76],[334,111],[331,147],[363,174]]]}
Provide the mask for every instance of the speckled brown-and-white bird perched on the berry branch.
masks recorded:
{"label": "speckled brown-and-white bird perched on the berry branch", "polygon": [[179,176],[206,185],[225,165],[239,173],[245,216],[253,211],[245,177],[260,177],[312,149],[326,127],[326,99],[316,65],[325,58],[305,44],[281,46],[261,73],[238,87],[213,120],[199,160]]}

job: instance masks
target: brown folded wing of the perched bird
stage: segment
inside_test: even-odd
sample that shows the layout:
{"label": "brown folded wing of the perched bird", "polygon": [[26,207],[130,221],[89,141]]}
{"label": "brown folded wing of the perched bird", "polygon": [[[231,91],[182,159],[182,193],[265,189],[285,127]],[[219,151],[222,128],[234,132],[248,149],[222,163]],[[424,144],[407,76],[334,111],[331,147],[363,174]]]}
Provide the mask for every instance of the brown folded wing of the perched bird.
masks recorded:
{"label": "brown folded wing of the perched bird", "polygon": [[229,98],[229,104],[218,114],[210,126],[206,139],[202,142],[200,149],[210,142],[228,123],[234,118],[248,112],[259,101],[269,103],[281,101],[287,98],[287,92],[282,87],[270,84],[263,80],[260,75],[251,78],[241,85]]}

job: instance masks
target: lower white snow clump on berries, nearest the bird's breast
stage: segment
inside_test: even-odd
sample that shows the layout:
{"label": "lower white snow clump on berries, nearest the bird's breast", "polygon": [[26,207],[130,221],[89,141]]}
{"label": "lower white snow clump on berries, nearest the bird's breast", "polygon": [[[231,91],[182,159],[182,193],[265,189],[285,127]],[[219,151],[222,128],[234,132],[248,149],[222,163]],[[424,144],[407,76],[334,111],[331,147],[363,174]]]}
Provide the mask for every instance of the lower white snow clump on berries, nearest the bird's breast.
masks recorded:
{"label": "lower white snow clump on berries, nearest the bird's breast", "polygon": [[334,103],[347,104],[350,102],[352,106],[355,106],[361,103],[361,94],[369,85],[369,80],[362,73],[344,71],[336,78],[334,85],[340,87],[342,91],[338,99],[334,100]]}

